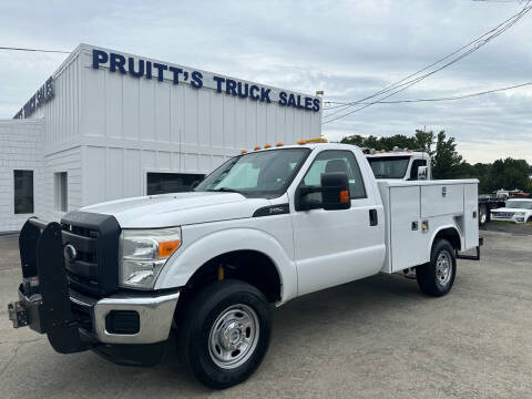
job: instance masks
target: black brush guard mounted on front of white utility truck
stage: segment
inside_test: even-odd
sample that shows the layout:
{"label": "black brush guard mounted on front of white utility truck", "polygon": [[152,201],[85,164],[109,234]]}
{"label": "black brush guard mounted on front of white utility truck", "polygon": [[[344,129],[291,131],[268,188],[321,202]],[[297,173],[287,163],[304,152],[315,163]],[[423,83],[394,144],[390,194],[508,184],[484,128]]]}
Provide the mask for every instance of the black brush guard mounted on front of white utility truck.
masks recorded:
{"label": "black brush guard mounted on front of white utility truck", "polygon": [[93,348],[98,342],[80,334],[80,321],[72,311],[64,268],[61,225],[30,218],[19,237],[22,284],[19,301],[8,305],[13,327],[30,326],[47,334],[60,354]]}

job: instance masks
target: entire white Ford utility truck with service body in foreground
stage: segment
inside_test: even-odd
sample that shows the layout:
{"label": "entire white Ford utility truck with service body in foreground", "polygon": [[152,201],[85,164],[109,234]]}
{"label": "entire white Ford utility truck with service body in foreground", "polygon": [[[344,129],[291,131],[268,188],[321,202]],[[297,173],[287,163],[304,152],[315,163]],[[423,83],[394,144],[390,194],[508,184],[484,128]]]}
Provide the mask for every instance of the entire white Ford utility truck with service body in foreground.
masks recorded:
{"label": "entire white Ford utility truck with service body in foreground", "polygon": [[458,252],[479,245],[477,185],[378,183],[356,146],[278,143],[191,193],[30,218],[9,316],[59,352],[130,365],[155,362],[173,329],[193,375],[229,387],[265,356],[272,305],[412,268],[423,293],[449,293]]}

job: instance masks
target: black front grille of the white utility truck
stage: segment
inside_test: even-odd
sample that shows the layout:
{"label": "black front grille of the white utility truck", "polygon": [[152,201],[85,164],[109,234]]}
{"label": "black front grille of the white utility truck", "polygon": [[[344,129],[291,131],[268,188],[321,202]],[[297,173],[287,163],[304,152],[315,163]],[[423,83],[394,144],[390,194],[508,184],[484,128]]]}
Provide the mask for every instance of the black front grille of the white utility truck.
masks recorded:
{"label": "black front grille of the white utility truck", "polygon": [[63,247],[71,245],[75,252],[73,259],[64,259],[71,288],[93,297],[115,291],[120,237],[116,219],[109,215],[71,212],[61,219],[61,226]]}

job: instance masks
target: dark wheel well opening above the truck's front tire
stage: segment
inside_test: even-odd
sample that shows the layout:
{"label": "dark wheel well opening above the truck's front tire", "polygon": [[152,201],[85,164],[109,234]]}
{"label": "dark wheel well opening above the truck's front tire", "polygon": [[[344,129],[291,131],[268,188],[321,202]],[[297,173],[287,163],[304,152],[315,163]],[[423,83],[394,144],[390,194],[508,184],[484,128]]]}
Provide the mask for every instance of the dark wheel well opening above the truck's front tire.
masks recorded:
{"label": "dark wheel well opening above the truck's front tire", "polygon": [[234,250],[212,258],[188,279],[185,286],[186,294],[197,291],[221,278],[246,282],[258,288],[268,301],[280,300],[280,278],[277,268],[273,260],[260,252]]}

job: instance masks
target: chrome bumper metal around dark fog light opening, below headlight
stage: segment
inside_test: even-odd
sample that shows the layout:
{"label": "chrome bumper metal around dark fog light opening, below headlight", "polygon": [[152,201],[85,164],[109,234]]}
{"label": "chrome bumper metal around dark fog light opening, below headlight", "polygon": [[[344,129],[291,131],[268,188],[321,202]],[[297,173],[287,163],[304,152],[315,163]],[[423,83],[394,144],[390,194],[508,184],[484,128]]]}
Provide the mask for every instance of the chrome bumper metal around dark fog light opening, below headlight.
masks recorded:
{"label": "chrome bumper metal around dark fog light opening, below headlight", "polygon": [[[85,308],[92,317],[93,334],[103,344],[155,344],[168,338],[180,293],[158,296],[116,294],[94,300],[75,291],[70,300]],[[105,329],[105,317],[112,310],[133,310],[139,314],[140,329],[136,334],[111,334]]]}

